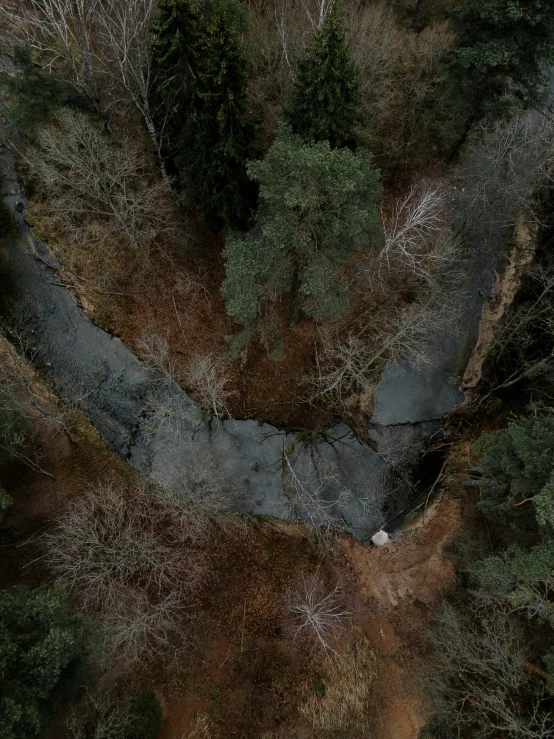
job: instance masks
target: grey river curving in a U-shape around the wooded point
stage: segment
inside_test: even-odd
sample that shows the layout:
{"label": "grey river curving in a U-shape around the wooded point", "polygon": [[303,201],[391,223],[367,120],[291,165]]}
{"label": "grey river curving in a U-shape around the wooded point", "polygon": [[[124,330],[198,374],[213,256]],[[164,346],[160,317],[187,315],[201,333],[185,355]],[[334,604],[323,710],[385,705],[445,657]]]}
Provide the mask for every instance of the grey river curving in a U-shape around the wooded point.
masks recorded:
{"label": "grey river curving in a U-shape around the wooded point", "polygon": [[[1,134],[5,141],[5,125]],[[479,161],[477,149],[461,182],[464,176],[471,181]],[[196,486],[208,495],[210,481],[216,481],[230,510],[315,524],[336,521],[362,539],[406,505],[414,494],[411,470],[426,440],[462,400],[460,366],[475,344],[499,244],[511,229],[506,214],[495,212],[466,229],[463,289],[449,298],[456,318],[429,338],[428,361],[401,359],[385,367],[370,424],[372,446],[343,424],[314,445],[256,421],[203,420],[173,380],[147,367],[76,303],[60,280],[60,265],[15,208],[26,200],[5,143],[0,168],[4,202],[17,227],[0,254],[4,322],[29,345],[59,396],[81,408],[110,449],[177,494]],[[454,210],[458,203],[461,212],[462,206],[467,210],[466,195],[463,184],[457,187]]]}

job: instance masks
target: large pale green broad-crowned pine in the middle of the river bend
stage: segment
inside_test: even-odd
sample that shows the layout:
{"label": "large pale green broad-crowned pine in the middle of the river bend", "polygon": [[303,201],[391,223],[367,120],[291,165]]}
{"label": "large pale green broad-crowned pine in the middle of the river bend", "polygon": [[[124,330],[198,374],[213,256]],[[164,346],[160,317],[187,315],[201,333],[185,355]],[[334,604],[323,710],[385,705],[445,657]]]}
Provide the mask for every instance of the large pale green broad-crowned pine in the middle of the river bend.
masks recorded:
{"label": "large pale green broad-crowned pine in the middle of the river bend", "polygon": [[348,292],[337,273],[354,252],[371,246],[381,195],[371,155],[306,143],[281,125],[263,161],[251,162],[260,186],[256,224],[232,233],[224,249],[222,291],[227,311],[252,326],[264,306],[281,296],[317,320],[340,316]]}

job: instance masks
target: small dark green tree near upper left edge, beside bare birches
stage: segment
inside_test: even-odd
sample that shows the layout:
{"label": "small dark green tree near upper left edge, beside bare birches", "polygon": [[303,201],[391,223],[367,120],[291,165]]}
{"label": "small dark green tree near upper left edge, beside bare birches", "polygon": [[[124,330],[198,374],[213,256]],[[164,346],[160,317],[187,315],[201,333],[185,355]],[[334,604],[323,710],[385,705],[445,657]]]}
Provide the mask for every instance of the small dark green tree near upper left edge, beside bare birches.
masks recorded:
{"label": "small dark green tree near upper left edge, beside bare birches", "polygon": [[14,63],[15,74],[5,74],[3,80],[10,102],[8,112],[17,128],[33,135],[59,108],[88,108],[87,100],[67,80],[36,65],[27,47],[15,48]]}

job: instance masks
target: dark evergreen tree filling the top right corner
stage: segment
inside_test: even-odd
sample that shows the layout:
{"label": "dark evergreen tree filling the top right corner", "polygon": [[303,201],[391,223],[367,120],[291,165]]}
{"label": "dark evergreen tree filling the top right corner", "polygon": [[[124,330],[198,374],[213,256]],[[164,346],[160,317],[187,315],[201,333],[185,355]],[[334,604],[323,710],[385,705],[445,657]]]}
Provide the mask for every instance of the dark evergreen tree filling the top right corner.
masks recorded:
{"label": "dark evergreen tree filling the top right corner", "polygon": [[454,23],[458,36],[438,98],[451,158],[477,122],[539,105],[554,61],[551,0],[469,0],[454,11]]}

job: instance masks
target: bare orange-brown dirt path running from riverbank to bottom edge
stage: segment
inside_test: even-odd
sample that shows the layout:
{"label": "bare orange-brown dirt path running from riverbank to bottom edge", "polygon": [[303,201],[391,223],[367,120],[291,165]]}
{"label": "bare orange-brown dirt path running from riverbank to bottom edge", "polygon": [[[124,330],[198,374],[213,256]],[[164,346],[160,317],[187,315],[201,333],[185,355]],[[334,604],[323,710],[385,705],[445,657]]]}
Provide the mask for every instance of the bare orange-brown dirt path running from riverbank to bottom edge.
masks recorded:
{"label": "bare orange-brown dirt path running from riverbank to bottom edge", "polygon": [[374,683],[379,739],[417,739],[428,719],[424,696],[413,678],[419,634],[454,581],[446,547],[473,517],[470,506],[446,496],[431,516],[386,547],[344,544],[365,614],[363,630],[379,655]]}

